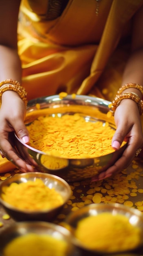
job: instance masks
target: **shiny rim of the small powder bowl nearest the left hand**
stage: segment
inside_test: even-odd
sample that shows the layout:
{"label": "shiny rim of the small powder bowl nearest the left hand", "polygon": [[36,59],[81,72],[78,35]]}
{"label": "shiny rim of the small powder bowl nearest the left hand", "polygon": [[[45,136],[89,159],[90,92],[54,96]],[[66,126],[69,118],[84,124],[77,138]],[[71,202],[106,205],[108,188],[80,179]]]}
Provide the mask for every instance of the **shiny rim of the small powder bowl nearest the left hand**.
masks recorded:
{"label": "shiny rim of the small powder bowl nearest the left hand", "polygon": [[[71,196],[72,191],[71,191],[70,185],[68,184],[68,182],[66,182],[66,180],[62,179],[61,177],[59,177],[57,175],[53,175],[53,174],[50,174],[50,173],[40,173],[40,172],[19,173],[19,174],[16,174],[15,176],[8,177],[6,180],[0,182],[0,190],[2,189],[2,186],[6,186],[7,184],[5,185],[5,183],[9,182],[10,180],[13,180],[12,182],[16,182],[16,180],[18,180],[19,177],[25,177],[26,175],[29,175],[29,177],[30,176],[34,177],[34,175],[35,175],[35,178],[36,178],[36,176],[38,178],[38,176],[43,175],[43,176],[45,176],[45,178],[46,177],[47,178],[50,177],[50,178],[52,178],[54,180],[60,181],[61,184],[64,184],[64,187],[67,190],[66,198],[63,199],[64,202],[62,204],[60,204],[59,206],[57,206],[57,207],[53,207],[51,209],[38,210],[38,211],[33,211],[33,210],[29,210],[29,209],[18,209],[17,207],[14,207],[13,205],[11,205],[8,202],[4,201],[1,198],[1,193],[0,193],[0,203],[4,207],[6,207],[7,209],[12,210],[12,211],[17,211],[19,213],[32,214],[32,215],[50,213],[51,211],[55,211],[56,209],[59,209],[59,208],[63,207],[64,204],[66,204],[66,202],[68,201],[68,199]],[[12,182],[10,182],[9,185]]]}

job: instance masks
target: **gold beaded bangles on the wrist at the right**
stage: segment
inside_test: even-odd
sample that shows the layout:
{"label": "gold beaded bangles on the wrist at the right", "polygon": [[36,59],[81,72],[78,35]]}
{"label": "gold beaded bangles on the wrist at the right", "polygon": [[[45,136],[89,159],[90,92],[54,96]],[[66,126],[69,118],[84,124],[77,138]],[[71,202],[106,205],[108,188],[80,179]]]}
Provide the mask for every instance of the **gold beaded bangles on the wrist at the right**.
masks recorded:
{"label": "gold beaded bangles on the wrist at the right", "polygon": [[136,104],[137,104],[137,106],[139,108],[139,113],[140,113],[140,115],[142,115],[143,114],[143,100],[140,99],[139,95],[136,94],[135,92],[125,92],[125,93],[121,94],[124,90],[126,90],[128,88],[136,88],[143,95],[143,86],[138,85],[136,83],[127,83],[127,84],[123,85],[118,90],[116,97],[112,101],[112,106],[111,106],[110,109],[112,110],[112,112],[115,112],[115,110],[117,109],[117,107],[119,106],[120,102],[123,99],[132,99],[133,101],[136,102]]}

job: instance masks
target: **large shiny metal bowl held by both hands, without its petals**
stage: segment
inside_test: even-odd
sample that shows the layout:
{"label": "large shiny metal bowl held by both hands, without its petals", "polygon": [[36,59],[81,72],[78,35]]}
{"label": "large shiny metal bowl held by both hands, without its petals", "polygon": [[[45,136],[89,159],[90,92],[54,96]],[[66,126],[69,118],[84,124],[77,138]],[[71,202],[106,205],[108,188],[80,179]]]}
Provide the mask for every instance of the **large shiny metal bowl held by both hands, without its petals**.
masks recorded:
{"label": "large shiny metal bowl held by both hands, without its petals", "polygon": [[[113,115],[110,118],[107,117],[109,104],[110,102],[104,99],[83,95],[76,95],[75,99],[72,98],[72,95],[68,95],[64,99],[60,99],[59,95],[42,97],[29,101],[25,124],[28,126],[41,115],[58,114],[58,116],[62,116],[65,114],[73,115],[79,113],[86,121],[102,121],[103,125],[108,121],[110,127],[115,130]],[[127,146],[127,144],[125,144],[119,150],[101,157],[67,159],[32,148],[23,143],[16,135],[15,145],[21,157],[26,160],[26,162],[35,166],[37,171],[57,175],[67,182],[91,178],[105,171],[121,157]],[[49,162],[55,163],[54,167],[49,166]]]}

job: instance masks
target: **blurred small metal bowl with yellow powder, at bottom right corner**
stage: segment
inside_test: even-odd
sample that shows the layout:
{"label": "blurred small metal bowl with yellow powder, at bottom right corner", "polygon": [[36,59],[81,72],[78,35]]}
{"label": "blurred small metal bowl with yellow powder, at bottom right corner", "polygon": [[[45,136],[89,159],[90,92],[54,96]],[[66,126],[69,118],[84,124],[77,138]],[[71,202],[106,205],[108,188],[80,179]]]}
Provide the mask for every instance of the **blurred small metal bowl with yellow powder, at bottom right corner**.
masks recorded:
{"label": "blurred small metal bowl with yellow powder, at bottom right corner", "polygon": [[143,215],[123,204],[89,204],[70,213],[66,225],[81,255],[143,252]]}

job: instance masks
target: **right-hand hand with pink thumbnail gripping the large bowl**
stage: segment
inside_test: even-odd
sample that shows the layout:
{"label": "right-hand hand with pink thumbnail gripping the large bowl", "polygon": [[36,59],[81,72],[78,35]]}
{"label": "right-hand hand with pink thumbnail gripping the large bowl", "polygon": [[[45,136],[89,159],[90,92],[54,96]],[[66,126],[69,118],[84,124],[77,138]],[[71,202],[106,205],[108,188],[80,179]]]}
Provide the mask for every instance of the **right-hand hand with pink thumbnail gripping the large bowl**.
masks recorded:
{"label": "right-hand hand with pink thumbnail gripping the large bowl", "polygon": [[114,113],[117,130],[112,138],[112,147],[118,150],[123,141],[128,142],[122,156],[106,171],[92,178],[102,180],[125,169],[134,159],[136,150],[143,147],[143,131],[137,104],[124,99]]}

